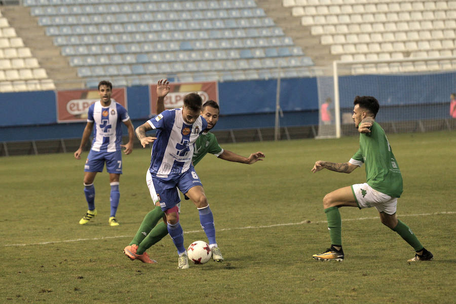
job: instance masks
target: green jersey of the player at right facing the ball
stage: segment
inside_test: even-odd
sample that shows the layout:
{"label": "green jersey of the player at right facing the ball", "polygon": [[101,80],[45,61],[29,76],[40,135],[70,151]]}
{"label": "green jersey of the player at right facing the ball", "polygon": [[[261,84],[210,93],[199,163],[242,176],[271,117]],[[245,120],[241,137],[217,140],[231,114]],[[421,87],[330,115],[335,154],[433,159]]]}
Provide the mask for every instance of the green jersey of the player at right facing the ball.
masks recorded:
{"label": "green jersey of the player at right facing the ball", "polygon": [[376,191],[399,198],[402,194],[402,175],[391,150],[385,131],[373,122],[370,133],[361,133],[359,149],[350,163],[366,165],[367,184]]}

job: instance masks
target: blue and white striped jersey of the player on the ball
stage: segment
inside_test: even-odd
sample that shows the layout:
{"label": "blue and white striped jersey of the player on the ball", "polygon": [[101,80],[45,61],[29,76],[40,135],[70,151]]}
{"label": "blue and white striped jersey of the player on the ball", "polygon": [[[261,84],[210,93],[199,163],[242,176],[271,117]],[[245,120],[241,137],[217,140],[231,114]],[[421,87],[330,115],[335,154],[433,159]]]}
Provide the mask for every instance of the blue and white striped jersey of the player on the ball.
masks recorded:
{"label": "blue and white striped jersey of the player on the ball", "polygon": [[179,108],[165,110],[147,123],[157,130],[150,157],[150,173],[171,179],[186,172],[192,164],[194,143],[207,127],[206,120],[200,116],[193,124],[186,124],[182,108]]}

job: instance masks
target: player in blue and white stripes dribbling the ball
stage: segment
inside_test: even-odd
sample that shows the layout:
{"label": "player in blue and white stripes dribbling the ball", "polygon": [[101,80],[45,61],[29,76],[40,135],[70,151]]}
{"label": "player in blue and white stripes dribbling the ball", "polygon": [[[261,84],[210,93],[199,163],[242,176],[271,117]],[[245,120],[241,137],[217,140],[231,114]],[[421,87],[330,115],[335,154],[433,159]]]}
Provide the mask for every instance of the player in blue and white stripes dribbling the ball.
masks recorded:
{"label": "player in blue and white stripes dribbling the ball", "polygon": [[[159,197],[160,207],[165,212],[168,233],[179,255],[178,269],[186,269],[189,265],[179,223],[177,203],[180,198],[176,187],[195,203],[209,244],[218,248],[214,217],[192,164],[194,143],[207,128],[206,120],[200,116],[201,108],[201,96],[190,93],[185,95],[182,108],[166,110],[136,128],[136,136],[143,147],[154,143],[146,180],[149,191],[154,189]],[[145,134],[153,129],[157,130],[156,137]],[[220,259],[223,259],[221,254]]]}

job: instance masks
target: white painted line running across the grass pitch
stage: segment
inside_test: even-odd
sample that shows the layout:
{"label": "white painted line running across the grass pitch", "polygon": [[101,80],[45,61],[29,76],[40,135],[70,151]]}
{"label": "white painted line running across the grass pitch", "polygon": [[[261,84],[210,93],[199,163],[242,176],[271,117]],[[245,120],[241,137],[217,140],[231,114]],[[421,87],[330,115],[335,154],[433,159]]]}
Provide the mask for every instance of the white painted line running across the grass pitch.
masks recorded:
{"label": "white painted line running across the grass pitch", "polygon": [[[454,214],[455,211],[442,211],[442,212],[435,212],[435,213],[419,213],[419,214],[402,214],[400,217],[404,216],[428,216],[428,215],[440,215],[440,214]],[[378,219],[378,216],[372,217],[358,217],[358,218],[346,218],[342,221],[353,221],[353,220],[365,220],[365,219]],[[272,228],[278,226],[291,226],[291,225],[302,225],[302,224],[320,224],[326,223],[326,220],[319,220],[319,221],[310,221],[310,220],[303,220],[297,223],[282,223],[282,224],[273,224],[273,225],[261,225],[261,226],[246,226],[246,227],[234,227],[234,228],[223,228],[217,229],[217,231],[230,231],[230,230],[241,230],[241,229],[261,229],[261,228]],[[189,233],[200,233],[202,230],[195,230],[195,231],[186,231],[184,234]],[[31,243],[31,244],[7,244],[3,245],[3,247],[13,247],[13,246],[31,246],[31,245],[46,245],[46,244],[58,244],[58,243],[71,243],[71,242],[81,242],[81,241],[97,241],[97,240],[107,240],[107,239],[120,239],[120,238],[131,238],[133,236],[114,236],[114,237],[101,237],[101,238],[92,238],[92,239],[74,239],[74,240],[64,240],[64,241],[53,241],[53,242],[41,242],[41,243]]]}

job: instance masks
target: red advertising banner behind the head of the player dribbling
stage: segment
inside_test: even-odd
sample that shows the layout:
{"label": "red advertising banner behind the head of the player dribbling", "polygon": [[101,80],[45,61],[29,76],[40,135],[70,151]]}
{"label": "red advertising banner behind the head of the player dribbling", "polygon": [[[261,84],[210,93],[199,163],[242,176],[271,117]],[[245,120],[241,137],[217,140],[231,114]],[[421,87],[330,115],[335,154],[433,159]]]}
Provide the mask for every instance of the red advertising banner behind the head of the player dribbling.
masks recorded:
{"label": "red advertising banner behind the head of the player dribbling", "polygon": [[[150,85],[150,116],[157,115],[157,85]],[[170,83],[170,90],[165,97],[165,109],[175,109],[183,106],[183,98],[188,93],[198,93],[203,103],[214,100],[218,103],[217,82]]]}

